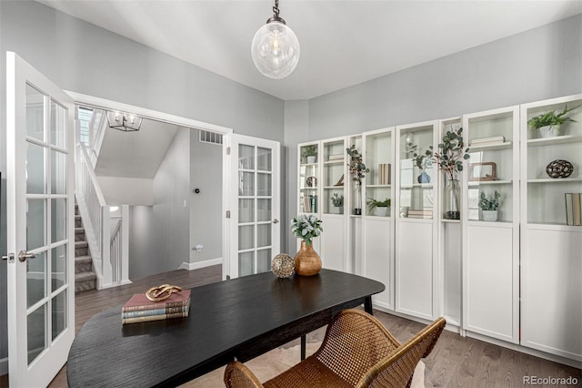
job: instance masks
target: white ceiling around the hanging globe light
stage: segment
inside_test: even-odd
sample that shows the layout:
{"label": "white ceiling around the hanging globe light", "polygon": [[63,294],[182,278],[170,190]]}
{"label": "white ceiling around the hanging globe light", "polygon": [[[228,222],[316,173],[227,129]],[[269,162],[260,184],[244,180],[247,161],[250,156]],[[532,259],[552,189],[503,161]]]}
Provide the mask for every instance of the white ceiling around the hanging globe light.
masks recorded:
{"label": "white ceiling around the hanging globe light", "polygon": [[285,100],[309,99],[537,26],[582,14],[581,0],[280,0],[301,58],[262,76],[250,43],[269,0],[38,0]]}

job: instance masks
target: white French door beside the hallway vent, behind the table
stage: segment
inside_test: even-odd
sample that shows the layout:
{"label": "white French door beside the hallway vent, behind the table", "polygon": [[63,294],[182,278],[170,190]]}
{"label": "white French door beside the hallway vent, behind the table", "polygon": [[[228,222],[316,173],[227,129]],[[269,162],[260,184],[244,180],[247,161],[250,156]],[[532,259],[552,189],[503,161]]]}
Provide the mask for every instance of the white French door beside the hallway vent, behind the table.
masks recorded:
{"label": "white French door beside the hallway vent, behind the table", "polygon": [[229,248],[223,268],[236,278],[271,271],[271,259],[280,253],[280,144],[236,134],[228,138]]}

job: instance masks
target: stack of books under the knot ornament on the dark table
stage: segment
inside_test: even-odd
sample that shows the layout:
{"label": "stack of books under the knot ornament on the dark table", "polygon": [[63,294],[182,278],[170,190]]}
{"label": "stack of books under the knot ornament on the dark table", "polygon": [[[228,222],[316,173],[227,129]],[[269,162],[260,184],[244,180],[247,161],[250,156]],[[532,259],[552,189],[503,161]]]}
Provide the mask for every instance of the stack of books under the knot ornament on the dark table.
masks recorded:
{"label": "stack of books under the knot ornament on the dark table", "polygon": [[165,301],[150,301],[145,293],[136,293],[121,310],[122,323],[183,318],[190,311],[190,290],[174,292]]}

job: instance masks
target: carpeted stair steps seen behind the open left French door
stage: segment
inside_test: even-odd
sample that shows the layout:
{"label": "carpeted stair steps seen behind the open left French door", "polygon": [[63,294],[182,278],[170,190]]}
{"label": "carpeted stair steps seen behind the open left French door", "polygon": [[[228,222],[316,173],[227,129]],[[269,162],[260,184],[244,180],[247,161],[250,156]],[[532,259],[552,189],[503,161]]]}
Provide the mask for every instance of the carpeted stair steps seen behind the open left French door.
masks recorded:
{"label": "carpeted stair steps seen behind the open left French door", "polygon": [[75,204],[75,292],[95,290],[96,278],[83,220]]}

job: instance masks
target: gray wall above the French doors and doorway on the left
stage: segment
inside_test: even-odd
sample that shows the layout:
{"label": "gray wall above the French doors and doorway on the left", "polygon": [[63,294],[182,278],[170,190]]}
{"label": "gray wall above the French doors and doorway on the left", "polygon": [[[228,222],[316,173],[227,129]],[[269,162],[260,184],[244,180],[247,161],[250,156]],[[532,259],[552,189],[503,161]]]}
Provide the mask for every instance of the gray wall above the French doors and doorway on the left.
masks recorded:
{"label": "gray wall above the French doors and doorway on the left", "polygon": [[[192,47],[196,49],[196,47]],[[0,90],[15,51],[65,90],[283,140],[284,101],[32,1],[0,1]],[[123,53],[114,57],[115,53]],[[0,97],[5,133],[5,97]],[[5,171],[0,136],[0,171]],[[5,177],[2,251],[5,254]],[[6,267],[0,263],[0,360],[6,348]],[[0,371],[5,364],[0,363]]]}

